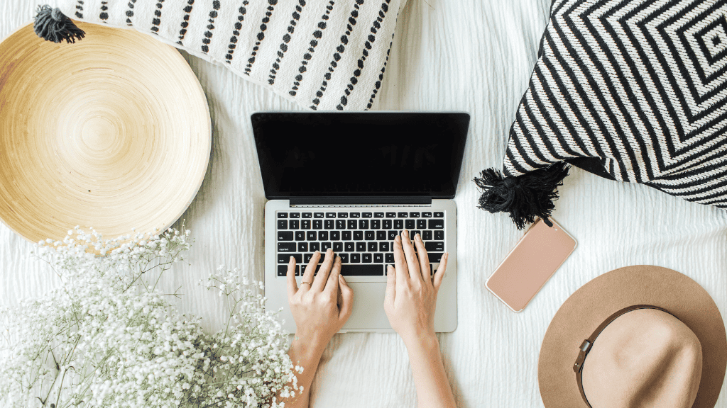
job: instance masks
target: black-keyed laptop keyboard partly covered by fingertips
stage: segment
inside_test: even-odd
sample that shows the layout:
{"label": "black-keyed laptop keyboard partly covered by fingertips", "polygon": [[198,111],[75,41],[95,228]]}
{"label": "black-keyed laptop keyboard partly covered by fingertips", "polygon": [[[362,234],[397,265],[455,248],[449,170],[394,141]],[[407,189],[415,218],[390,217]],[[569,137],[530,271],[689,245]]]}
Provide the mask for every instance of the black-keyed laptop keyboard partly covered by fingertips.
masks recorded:
{"label": "black-keyed laptop keyboard partly covered by fingertips", "polygon": [[290,256],[295,257],[295,276],[300,276],[316,250],[321,251],[318,272],[328,248],[341,257],[342,275],[384,276],[385,265],[394,264],[393,241],[402,229],[409,230],[412,240],[422,234],[430,263],[439,262],[445,248],[441,211],[278,212],[278,277],[286,276]]}

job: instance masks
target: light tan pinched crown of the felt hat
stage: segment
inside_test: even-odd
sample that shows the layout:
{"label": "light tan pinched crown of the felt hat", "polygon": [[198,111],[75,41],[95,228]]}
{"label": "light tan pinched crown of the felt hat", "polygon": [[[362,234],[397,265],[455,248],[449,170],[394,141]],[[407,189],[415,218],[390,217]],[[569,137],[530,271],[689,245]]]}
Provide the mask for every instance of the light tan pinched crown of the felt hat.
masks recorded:
{"label": "light tan pinched crown of the felt hat", "polygon": [[689,327],[656,309],[614,319],[582,369],[591,407],[690,408],[702,377],[702,346]]}

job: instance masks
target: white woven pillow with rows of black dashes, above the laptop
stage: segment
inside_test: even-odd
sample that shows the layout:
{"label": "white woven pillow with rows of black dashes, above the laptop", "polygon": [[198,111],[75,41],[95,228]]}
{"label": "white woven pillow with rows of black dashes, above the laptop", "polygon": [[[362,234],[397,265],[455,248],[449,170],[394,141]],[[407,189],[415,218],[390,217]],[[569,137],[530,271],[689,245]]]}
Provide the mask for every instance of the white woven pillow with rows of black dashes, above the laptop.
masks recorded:
{"label": "white woven pillow with rows of black dashes, above the laptop", "polygon": [[63,0],[65,15],[133,27],[312,110],[367,110],[406,0]]}

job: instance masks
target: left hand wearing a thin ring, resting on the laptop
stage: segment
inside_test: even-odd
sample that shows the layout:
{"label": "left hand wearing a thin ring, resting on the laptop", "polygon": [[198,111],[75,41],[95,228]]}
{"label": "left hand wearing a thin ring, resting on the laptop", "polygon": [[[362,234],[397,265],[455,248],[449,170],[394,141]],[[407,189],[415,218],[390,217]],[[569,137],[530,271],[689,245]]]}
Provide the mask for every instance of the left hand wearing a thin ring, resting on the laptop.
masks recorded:
{"label": "left hand wearing a thin ring, resting on the laptop", "polygon": [[288,301],[296,326],[296,337],[309,345],[326,348],[329,340],[351,315],[353,290],[341,276],[341,258],[329,248],[326,259],[315,277],[321,253],[310,258],[301,280],[295,282],[295,258],[288,264]]}

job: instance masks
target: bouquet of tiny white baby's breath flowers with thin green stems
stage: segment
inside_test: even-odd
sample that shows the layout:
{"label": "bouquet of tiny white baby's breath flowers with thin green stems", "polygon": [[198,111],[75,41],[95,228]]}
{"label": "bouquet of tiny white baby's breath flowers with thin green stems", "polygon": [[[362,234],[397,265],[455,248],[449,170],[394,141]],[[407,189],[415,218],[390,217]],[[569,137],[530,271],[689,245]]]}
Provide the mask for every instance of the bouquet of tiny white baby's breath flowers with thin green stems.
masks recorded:
{"label": "bouquet of tiny white baby's breath flowers with thin green stems", "polygon": [[230,312],[214,335],[157,289],[188,236],[103,240],[76,227],[36,245],[63,285],[0,310],[0,407],[282,407],[302,391],[260,282],[222,268],[204,282]]}

